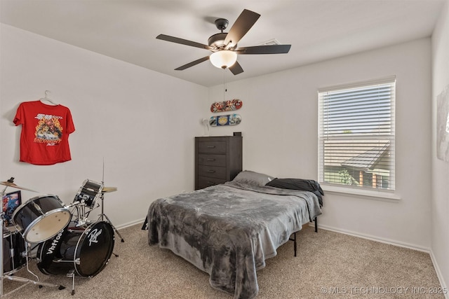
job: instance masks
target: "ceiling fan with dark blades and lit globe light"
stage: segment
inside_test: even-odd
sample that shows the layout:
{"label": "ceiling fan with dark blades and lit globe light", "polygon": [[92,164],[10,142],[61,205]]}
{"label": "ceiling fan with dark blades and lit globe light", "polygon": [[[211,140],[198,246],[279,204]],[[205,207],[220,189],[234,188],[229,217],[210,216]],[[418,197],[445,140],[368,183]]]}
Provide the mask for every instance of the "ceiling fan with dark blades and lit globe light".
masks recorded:
{"label": "ceiling fan with dark blades and lit globe light", "polygon": [[227,25],[229,24],[228,20],[215,20],[215,26],[221,32],[210,36],[208,39],[208,45],[204,45],[203,43],[196,43],[195,41],[188,41],[187,39],[180,39],[174,36],[168,36],[165,34],[159,34],[158,36],[156,36],[156,39],[170,41],[172,43],[180,43],[182,45],[192,46],[196,48],[203,48],[213,52],[206,57],[178,67],[177,69],[175,69],[176,71],[182,71],[183,69],[187,69],[201,62],[205,62],[206,60],[210,60],[210,62],[212,62],[215,67],[221,69],[229,68],[232,74],[237,75],[243,73],[241,65],[239,64],[239,62],[237,62],[237,54],[282,54],[288,53],[288,51],[290,50],[291,45],[252,46],[237,48],[237,43],[249,31],[249,29],[253,27],[259,17],[260,15],[258,13],[244,9],[243,12],[239,15],[239,18],[237,18],[236,22],[234,23],[234,25],[232,25],[231,29],[229,29],[229,32],[227,33],[223,32],[223,30],[225,30]]}

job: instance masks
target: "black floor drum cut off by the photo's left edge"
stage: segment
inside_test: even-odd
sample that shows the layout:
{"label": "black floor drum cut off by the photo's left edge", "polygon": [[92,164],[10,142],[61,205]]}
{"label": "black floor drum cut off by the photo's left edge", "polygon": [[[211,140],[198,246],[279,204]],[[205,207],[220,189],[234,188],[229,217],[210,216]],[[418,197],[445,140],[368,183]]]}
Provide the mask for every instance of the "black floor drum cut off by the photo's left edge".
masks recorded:
{"label": "black floor drum cut off by the photo's left edge", "polygon": [[27,263],[25,241],[20,232],[4,231],[3,234],[3,272],[10,274]]}

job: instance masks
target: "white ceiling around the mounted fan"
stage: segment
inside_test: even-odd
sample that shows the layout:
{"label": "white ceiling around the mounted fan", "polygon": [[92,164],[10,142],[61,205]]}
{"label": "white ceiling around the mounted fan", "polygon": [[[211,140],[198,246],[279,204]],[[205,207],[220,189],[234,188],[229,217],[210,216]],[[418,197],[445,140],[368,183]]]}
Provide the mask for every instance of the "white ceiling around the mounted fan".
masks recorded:
{"label": "white ceiling around the mounted fan", "polygon": [[[0,0],[0,21],[140,67],[204,86],[269,74],[430,36],[448,0]],[[239,46],[272,39],[288,54],[239,55],[234,76],[206,61],[174,69],[208,50],[156,39],[158,34],[207,44],[246,8],[261,17]],[[224,74],[225,73],[225,74]],[[224,77],[225,76],[225,77]]]}

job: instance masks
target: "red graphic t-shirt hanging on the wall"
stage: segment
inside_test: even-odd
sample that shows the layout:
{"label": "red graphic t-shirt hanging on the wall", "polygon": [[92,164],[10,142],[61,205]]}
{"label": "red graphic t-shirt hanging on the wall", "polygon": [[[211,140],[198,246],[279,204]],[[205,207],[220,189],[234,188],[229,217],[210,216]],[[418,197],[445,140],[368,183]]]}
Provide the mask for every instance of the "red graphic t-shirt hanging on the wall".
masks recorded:
{"label": "red graphic t-shirt hanging on the wall", "polygon": [[66,106],[46,105],[41,101],[23,102],[13,122],[22,125],[20,162],[53,165],[72,160],[69,134],[75,127]]}

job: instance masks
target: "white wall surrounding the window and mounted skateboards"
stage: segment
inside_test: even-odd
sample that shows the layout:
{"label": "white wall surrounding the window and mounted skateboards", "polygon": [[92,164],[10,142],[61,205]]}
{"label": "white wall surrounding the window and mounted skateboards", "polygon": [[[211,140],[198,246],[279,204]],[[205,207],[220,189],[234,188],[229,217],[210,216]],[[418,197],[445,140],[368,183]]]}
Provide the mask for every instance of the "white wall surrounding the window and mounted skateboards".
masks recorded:
{"label": "white wall surrounding the window and mounted skateboards", "polygon": [[[402,199],[393,203],[326,193],[319,224],[429,250],[430,57],[430,39],[420,39],[228,83],[225,98],[243,100],[237,111],[242,122],[212,128],[210,134],[242,132],[244,169],[317,179],[317,90],[396,75],[396,193]],[[210,88],[209,99],[223,99],[222,85]]]}

